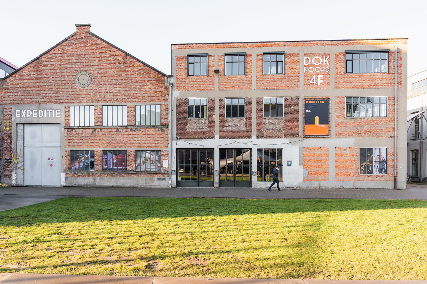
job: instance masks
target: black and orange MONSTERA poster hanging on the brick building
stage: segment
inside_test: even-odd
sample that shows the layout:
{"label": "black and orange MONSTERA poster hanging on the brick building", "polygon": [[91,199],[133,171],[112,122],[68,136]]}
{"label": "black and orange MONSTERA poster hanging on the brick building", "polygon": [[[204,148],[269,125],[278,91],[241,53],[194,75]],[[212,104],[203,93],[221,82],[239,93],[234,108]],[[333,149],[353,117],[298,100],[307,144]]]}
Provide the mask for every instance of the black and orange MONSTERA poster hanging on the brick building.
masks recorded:
{"label": "black and orange MONSTERA poster hanging on the brick building", "polygon": [[304,98],[304,136],[329,135],[329,98]]}

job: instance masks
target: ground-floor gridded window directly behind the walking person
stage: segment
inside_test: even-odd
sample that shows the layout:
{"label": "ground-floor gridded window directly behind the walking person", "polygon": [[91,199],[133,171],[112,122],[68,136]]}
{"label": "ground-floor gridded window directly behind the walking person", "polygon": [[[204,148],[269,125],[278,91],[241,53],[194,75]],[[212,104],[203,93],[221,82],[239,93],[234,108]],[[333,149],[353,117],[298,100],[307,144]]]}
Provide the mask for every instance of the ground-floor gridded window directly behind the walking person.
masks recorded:
{"label": "ground-floor gridded window directly behind the walking person", "polygon": [[273,168],[280,165],[279,181],[283,181],[283,149],[257,149],[257,181],[273,181]]}

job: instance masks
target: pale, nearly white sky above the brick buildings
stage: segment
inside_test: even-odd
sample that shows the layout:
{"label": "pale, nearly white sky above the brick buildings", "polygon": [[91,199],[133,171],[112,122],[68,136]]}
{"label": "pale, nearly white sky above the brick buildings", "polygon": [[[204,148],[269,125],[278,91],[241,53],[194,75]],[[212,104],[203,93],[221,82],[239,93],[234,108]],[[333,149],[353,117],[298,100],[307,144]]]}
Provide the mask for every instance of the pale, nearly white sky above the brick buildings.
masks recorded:
{"label": "pale, nearly white sky above the brick buildings", "polygon": [[171,43],[401,38],[408,76],[427,69],[426,0],[0,0],[0,57],[23,66],[91,32],[171,74]]}

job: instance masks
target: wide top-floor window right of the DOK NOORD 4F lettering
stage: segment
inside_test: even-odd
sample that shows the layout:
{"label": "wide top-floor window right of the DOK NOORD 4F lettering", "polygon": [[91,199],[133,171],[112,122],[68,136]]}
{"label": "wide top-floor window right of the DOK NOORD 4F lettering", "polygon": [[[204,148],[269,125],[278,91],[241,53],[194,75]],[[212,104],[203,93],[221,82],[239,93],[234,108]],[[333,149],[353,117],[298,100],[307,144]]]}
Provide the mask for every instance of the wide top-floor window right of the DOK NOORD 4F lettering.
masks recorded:
{"label": "wide top-floor window right of the DOK NOORD 4F lettering", "polygon": [[345,73],[389,72],[389,51],[345,52]]}

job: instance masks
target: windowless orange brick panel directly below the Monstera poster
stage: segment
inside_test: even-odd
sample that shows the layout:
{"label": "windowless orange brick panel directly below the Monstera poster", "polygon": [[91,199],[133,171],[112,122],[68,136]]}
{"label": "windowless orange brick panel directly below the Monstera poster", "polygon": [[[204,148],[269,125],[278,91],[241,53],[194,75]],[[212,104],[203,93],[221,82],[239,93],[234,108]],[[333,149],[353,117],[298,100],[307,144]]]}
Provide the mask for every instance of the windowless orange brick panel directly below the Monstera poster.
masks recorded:
{"label": "windowless orange brick panel directly below the Monstera poster", "polygon": [[329,148],[304,147],[303,151],[304,169],[307,171],[304,181],[328,181]]}

